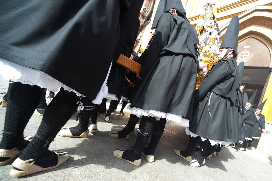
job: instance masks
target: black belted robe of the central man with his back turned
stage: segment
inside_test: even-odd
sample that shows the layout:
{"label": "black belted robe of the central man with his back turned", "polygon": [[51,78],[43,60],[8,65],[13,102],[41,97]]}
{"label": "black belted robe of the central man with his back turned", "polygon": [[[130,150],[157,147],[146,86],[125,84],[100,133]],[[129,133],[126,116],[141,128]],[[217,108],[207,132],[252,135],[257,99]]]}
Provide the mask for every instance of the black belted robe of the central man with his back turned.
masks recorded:
{"label": "black belted robe of the central man with his back turned", "polygon": [[139,57],[143,82],[132,106],[191,118],[196,86],[198,36],[186,17],[163,13]]}

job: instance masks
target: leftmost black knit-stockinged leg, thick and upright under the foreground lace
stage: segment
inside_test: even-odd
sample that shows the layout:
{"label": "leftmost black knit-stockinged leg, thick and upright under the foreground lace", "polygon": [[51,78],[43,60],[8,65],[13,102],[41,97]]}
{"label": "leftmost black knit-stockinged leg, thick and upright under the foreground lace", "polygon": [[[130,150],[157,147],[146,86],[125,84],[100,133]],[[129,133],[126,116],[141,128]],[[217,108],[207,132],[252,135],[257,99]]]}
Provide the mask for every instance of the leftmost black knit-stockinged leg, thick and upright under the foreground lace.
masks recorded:
{"label": "leftmost black knit-stockinged leg, thick and upright under the foreground lace", "polygon": [[42,88],[14,82],[10,87],[1,149],[12,149],[24,140],[24,128],[39,104]]}

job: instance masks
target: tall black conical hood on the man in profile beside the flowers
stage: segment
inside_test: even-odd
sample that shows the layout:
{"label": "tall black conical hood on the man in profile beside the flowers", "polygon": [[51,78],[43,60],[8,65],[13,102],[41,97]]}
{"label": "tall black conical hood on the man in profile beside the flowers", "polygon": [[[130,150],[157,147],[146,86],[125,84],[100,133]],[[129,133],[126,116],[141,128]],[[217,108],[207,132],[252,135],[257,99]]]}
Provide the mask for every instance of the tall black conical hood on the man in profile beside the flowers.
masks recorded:
{"label": "tall black conical hood on the man in profile beside the flowers", "polygon": [[239,18],[234,16],[228,25],[228,29],[223,37],[221,48],[231,48],[234,50],[233,58],[237,58],[237,47],[238,47],[238,34],[239,34]]}

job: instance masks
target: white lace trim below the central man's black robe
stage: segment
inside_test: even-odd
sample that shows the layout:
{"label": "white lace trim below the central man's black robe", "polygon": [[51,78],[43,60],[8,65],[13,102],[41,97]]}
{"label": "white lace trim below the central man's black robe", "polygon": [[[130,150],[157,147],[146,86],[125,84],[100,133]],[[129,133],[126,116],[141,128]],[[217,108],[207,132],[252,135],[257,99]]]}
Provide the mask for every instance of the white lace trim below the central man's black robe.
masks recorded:
{"label": "white lace trim below the central man's black robe", "polygon": [[136,115],[138,118],[141,116],[151,116],[154,118],[166,118],[167,121],[174,121],[182,126],[189,127],[189,120],[183,118],[180,115],[174,115],[170,113],[148,110],[148,109],[140,109],[133,107],[131,110],[131,114]]}

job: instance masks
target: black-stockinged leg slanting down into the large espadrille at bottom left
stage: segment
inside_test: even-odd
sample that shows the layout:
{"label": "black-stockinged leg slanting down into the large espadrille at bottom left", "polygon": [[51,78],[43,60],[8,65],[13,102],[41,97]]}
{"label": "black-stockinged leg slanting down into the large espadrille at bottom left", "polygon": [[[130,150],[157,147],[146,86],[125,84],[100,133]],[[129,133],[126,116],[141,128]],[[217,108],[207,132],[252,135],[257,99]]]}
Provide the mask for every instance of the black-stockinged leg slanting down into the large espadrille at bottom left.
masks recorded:
{"label": "black-stockinged leg slanting down into the large espadrille at bottom left", "polygon": [[[47,106],[37,134],[20,155],[22,160],[51,157],[55,155],[48,150],[50,142],[73,115],[78,107],[79,97],[75,93],[60,89],[60,92]],[[41,154],[42,153],[42,154]],[[46,161],[43,161],[46,162]],[[35,162],[36,164],[37,162]],[[37,163],[38,164],[38,163]],[[51,163],[52,165],[55,162]]]}

